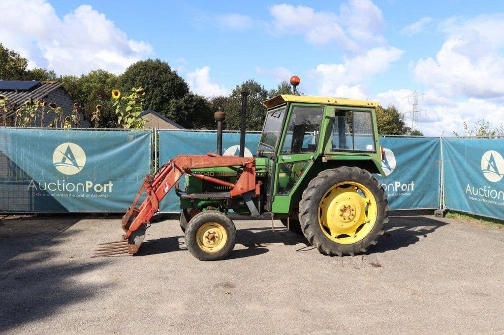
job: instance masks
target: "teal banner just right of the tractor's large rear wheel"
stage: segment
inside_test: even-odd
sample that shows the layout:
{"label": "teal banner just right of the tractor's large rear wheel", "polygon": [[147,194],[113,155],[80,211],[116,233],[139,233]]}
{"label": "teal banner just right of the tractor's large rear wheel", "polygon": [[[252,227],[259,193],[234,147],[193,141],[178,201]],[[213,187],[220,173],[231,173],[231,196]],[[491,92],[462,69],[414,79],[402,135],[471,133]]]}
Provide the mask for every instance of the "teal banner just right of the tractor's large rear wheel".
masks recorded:
{"label": "teal banner just right of the tractor's large rear wheel", "polygon": [[379,177],[391,210],[439,208],[440,139],[429,137],[383,137]]}

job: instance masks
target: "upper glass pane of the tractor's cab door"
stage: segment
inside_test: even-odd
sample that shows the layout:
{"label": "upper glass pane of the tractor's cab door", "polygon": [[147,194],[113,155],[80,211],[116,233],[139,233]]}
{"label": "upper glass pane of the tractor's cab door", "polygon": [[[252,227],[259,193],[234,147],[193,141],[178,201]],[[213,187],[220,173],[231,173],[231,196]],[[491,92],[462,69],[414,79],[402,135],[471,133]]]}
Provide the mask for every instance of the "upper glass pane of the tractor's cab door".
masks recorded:
{"label": "upper glass pane of the tractor's cab door", "polygon": [[315,152],[323,114],[324,107],[294,107],[281,152]]}

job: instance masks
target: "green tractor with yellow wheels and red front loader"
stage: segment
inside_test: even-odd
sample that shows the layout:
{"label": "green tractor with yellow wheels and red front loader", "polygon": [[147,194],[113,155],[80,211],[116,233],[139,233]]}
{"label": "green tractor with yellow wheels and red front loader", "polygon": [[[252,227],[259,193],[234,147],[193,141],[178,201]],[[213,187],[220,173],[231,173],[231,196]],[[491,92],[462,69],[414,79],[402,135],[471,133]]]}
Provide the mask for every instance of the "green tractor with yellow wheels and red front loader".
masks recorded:
{"label": "green tractor with yellow wheels and red front loader", "polygon": [[[231,210],[271,216],[272,224],[280,219],[324,255],[354,256],[376,244],[389,209],[387,195],[372,175],[384,175],[376,128],[378,102],[276,96],[263,102],[267,116],[257,154],[243,157],[245,94],[242,101],[240,157],[220,155],[224,116],[216,113],[219,154],[180,155],[154,177],[147,176],[123,217],[127,233],[121,250],[138,251],[149,219],[171,188],[180,197],[180,227],[187,248],[203,261],[223,259],[233,249],[236,229],[227,216]],[[179,190],[183,174],[185,189]],[[137,208],[143,190],[147,198]],[[120,243],[111,245],[118,250]],[[108,246],[97,256],[112,254]]]}

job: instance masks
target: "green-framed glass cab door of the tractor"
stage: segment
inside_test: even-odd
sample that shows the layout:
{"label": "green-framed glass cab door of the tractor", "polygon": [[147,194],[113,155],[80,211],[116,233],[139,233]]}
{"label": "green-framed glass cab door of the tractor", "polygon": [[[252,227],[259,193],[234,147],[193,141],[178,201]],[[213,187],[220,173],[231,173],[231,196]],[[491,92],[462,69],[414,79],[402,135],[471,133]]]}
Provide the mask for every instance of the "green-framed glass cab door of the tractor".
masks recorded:
{"label": "green-framed glass cab door of the tractor", "polygon": [[289,213],[292,193],[321,152],[324,116],[324,105],[290,105],[275,164],[272,212]]}

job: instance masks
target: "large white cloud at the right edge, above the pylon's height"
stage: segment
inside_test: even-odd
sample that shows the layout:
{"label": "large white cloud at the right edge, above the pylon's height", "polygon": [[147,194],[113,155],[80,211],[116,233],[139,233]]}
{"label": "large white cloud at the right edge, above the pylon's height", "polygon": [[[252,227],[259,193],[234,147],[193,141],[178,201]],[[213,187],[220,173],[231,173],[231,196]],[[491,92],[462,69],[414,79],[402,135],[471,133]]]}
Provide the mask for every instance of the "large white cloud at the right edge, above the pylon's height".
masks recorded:
{"label": "large white cloud at the right edge, above the pylon's height", "polygon": [[504,16],[478,16],[441,25],[447,40],[435,58],[420,59],[415,79],[448,97],[504,95]]}

